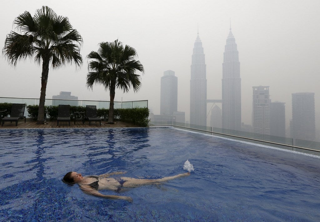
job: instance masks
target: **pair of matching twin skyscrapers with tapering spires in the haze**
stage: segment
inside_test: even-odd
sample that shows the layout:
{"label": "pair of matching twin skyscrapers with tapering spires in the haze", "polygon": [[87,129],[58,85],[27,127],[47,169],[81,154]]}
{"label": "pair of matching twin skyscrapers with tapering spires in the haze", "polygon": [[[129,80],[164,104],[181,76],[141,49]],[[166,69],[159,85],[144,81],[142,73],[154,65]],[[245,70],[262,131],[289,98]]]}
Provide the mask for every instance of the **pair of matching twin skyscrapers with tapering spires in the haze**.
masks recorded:
{"label": "pair of matching twin skyscrapers with tapering spires in the haze", "polygon": [[[190,124],[207,124],[207,79],[202,42],[197,35],[191,62]],[[239,53],[231,32],[227,37],[222,64],[222,128],[241,130],[241,78]]]}

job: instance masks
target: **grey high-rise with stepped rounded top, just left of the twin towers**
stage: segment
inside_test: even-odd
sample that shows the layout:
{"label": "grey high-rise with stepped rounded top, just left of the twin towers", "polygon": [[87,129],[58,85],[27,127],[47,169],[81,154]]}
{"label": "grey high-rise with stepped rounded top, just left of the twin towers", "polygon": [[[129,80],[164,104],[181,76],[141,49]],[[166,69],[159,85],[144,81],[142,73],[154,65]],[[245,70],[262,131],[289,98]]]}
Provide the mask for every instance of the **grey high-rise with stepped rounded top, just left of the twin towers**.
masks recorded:
{"label": "grey high-rise with stepped rounded top, just left of the twin towers", "polygon": [[161,77],[160,115],[172,115],[178,107],[178,77],[172,70],[164,72]]}

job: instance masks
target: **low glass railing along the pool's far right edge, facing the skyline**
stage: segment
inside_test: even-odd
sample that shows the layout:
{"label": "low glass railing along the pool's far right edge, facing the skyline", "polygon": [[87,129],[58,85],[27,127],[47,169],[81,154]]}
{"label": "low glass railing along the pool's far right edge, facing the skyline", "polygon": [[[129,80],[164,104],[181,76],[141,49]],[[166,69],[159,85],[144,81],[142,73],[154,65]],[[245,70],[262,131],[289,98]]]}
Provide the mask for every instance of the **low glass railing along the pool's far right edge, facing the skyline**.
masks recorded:
{"label": "low glass railing along the pool's far right edge, facing the skyline", "polygon": [[[287,137],[272,136],[272,135],[263,135],[258,133],[246,132],[246,131],[237,131],[237,130],[228,130],[216,127],[200,126],[195,124],[185,124],[185,123],[160,123],[160,122],[150,122],[152,125],[172,125],[175,127],[184,127],[190,131],[203,132],[206,134],[212,134],[227,138],[232,138],[242,141],[250,141],[258,144],[269,145],[273,147],[278,147],[282,149],[290,149],[294,151],[320,155],[320,142],[316,141],[306,141],[298,140]],[[307,148],[307,149],[303,149]],[[310,149],[310,150],[308,150]],[[315,151],[313,151],[315,150]]]}

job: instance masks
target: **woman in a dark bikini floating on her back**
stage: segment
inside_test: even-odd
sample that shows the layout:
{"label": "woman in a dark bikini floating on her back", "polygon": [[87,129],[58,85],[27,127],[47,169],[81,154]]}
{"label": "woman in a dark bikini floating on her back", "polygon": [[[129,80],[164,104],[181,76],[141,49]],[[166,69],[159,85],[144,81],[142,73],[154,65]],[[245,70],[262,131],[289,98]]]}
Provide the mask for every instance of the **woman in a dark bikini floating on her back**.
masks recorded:
{"label": "woman in a dark bikini floating on her back", "polygon": [[119,174],[124,174],[124,172],[101,174],[99,176],[82,176],[77,172],[69,172],[63,177],[63,182],[67,184],[78,184],[84,193],[91,194],[97,197],[104,197],[108,199],[121,199],[131,202],[131,197],[104,195],[101,194],[99,190],[112,190],[115,192],[120,192],[122,188],[133,188],[142,185],[159,184],[161,182],[190,175],[190,173],[184,173],[175,176],[167,176],[160,179],[135,179],[124,176],[110,177],[111,175]]}

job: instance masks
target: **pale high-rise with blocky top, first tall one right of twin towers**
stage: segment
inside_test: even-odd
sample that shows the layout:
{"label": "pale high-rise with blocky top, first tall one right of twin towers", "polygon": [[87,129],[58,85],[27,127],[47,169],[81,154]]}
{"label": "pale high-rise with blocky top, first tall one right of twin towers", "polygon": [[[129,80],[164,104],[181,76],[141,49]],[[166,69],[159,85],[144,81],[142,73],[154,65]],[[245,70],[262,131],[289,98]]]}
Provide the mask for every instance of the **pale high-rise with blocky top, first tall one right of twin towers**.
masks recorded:
{"label": "pale high-rise with blocky top, first tall one right of twin towers", "polygon": [[252,132],[256,139],[270,140],[269,86],[253,86]]}

